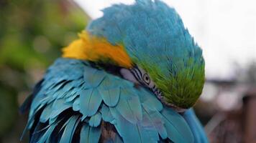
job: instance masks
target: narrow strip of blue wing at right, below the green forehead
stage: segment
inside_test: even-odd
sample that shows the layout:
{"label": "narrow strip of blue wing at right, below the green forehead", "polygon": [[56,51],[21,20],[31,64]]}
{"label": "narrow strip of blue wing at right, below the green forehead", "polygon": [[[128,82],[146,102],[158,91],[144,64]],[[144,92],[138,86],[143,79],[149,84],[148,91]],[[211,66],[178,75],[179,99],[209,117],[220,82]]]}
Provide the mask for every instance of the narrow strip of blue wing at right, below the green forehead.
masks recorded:
{"label": "narrow strip of blue wing at right, below the green forehead", "polygon": [[198,121],[196,114],[193,112],[193,109],[188,109],[183,114],[184,119],[188,122],[189,127],[191,127],[191,131],[193,133],[194,142],[196,143],[207,143],[209,142],[204,132],[204,128],[201,123]]}

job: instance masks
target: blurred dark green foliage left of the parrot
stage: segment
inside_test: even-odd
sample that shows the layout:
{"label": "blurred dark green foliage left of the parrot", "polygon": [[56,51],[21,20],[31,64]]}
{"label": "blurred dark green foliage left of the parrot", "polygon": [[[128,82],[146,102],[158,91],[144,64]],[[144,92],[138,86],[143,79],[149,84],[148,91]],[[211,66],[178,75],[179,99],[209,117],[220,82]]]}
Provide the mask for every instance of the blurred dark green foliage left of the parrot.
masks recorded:
{"label": "blurred dark green foliage left of the parrot", "polygon": [[29,89],[88,19],[73,1],[0,0],[0,142]]}

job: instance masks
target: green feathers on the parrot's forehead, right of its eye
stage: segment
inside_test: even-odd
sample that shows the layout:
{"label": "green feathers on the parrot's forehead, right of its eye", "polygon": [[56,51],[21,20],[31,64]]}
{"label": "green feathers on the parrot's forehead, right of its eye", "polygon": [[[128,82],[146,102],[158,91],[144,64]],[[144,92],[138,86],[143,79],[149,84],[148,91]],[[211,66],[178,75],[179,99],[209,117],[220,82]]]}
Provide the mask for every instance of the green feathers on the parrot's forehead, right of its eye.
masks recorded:
{"label": "green feathers on the parrot's forehead, right of its eye", "polygon": [[[191,59],[190,61],[192,61]],[[140,62],[139,62],[140,63]],[[188,61],[190,66],[171,66],[168,76],[162,73],[157,65],[148,66],[141,63],[143,69],[163,92],[164,102],[183,109],[188,109],[196,103],[204,87],[204,63],[194,64]],[[174,70],[176,74],[174,74]]]}

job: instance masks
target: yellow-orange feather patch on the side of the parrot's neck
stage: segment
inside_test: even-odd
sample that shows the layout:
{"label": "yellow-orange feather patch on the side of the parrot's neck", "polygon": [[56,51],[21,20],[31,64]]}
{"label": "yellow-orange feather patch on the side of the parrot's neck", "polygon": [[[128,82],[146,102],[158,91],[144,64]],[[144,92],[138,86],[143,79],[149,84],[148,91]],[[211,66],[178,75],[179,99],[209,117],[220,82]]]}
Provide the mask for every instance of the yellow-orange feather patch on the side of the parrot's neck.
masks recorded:
{"label": "yellow-orange feather patch on the side of the parrot's neck", "polygon": [[106,39],[90,35],[87,31],[78,34],[80,39],[63,48],[63,57],[88,61],[113,61],[119,66],[132,67],[132,61],[122,45],[112,45]]}

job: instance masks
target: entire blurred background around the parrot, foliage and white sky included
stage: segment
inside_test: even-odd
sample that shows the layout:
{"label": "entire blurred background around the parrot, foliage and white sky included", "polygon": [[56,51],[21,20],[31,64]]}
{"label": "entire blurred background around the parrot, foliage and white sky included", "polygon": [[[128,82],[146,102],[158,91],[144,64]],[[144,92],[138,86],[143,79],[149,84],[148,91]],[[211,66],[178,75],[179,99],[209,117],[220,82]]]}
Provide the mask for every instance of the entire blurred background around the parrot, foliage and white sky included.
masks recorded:
{"label": "entire blurred background around the parrot, foliage and white sky included", "polygon": [[[195,109],[211,142],[256,142],[256,2],[164,0],[204,50]],[[0,0],[0,143],[19,142],[19,106],[100,9],[133,0]],[[26,142],[26,139],[24,140]]]}

